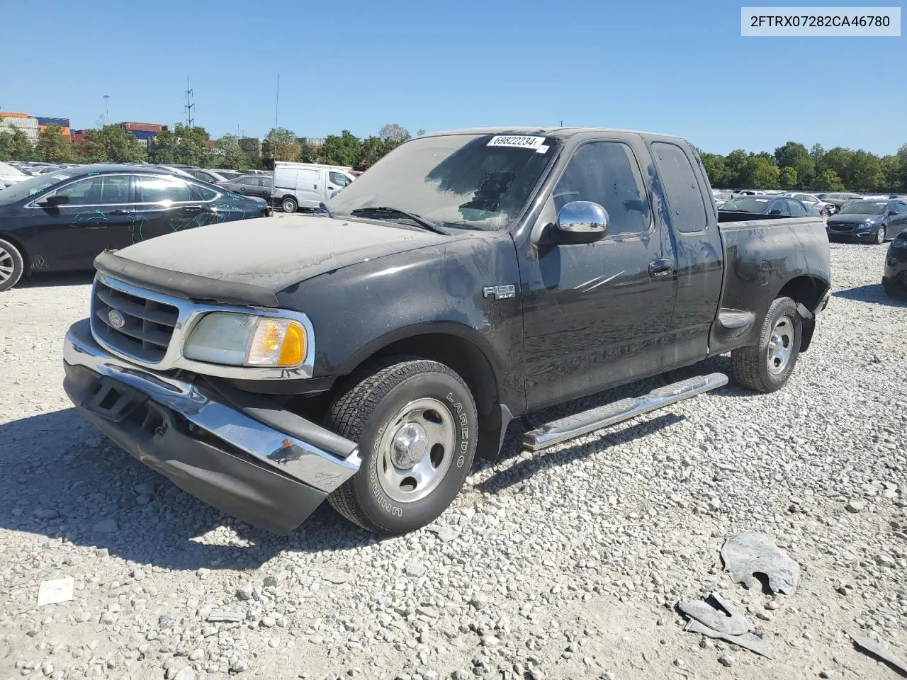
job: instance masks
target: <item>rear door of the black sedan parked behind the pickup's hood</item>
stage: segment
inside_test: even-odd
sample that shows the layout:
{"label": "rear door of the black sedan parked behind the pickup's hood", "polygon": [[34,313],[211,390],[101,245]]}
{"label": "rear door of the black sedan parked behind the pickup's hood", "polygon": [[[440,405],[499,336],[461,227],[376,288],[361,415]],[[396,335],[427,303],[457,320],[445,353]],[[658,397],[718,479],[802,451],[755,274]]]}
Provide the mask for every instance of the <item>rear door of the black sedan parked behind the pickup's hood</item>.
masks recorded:
{"label": "rear door of the black sedan parked behind the pickup's hood", "polygon": [[210,199],[216,196],[212,189],[174,176],[138,175],[132,242],[210,224],[214,219]]}

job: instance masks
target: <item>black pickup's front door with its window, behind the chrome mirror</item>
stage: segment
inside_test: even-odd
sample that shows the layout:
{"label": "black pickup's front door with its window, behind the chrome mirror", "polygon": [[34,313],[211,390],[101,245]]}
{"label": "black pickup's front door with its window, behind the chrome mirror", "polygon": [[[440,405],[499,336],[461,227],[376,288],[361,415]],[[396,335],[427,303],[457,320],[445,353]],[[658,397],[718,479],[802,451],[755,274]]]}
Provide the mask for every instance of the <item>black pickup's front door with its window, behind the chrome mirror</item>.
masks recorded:
{"label": "black pickup's front door with its window, behind the chrome mirror", "polygon": [[[636,151],[647,153],[641,145]],[[677,282],[637,153],[622,141],[582,144],[541,219],[553,222],[574,200],[608,211],[605,237],[587,244],[529,244],[521,257],[530,408],[661,371]]]}

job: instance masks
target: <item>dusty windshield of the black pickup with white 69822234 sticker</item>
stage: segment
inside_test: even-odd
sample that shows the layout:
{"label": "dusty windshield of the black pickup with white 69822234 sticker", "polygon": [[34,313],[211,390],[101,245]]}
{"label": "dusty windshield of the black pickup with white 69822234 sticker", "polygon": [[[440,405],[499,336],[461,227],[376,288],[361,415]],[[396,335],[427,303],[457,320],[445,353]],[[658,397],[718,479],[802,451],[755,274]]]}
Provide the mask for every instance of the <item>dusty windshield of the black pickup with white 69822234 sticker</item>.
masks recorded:
{"label": "dusty windshield of the black pickup with white 69822234 sticker", "polygon": [[559,145],[530,135],[421,137],[387,154],[327,207],[338,215],[393,208],[444,227],[506,228],[532,196]]}

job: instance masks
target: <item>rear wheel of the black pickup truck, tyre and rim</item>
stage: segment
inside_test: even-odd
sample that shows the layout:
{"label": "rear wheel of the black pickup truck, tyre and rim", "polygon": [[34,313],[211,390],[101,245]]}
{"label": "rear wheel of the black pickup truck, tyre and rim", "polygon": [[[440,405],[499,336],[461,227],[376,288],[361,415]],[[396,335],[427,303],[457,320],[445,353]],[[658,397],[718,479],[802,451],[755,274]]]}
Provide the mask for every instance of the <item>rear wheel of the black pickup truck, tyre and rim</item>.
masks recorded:
{"label": "rear wheel of the black pickup truck, tyre and rim", "polygon": [[777,297],[768,307],[756,345],[731,353],[737,383],[758,392],[784,387],[800,355],[800,315],[790,297]]}

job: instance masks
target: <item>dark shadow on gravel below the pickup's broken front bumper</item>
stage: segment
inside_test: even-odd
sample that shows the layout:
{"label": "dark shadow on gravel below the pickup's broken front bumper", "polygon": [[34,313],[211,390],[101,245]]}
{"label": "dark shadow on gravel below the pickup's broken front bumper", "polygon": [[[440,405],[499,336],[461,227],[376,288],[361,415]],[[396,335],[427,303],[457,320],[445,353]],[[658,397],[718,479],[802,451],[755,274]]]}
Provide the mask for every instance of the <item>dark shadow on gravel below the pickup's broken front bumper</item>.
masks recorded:
{"label": "dark shadow on gravel below the pickup's broken front bumper", "polygon": [[[133,460],[73,408],[0,424],[0,460],[0,527],[107,549],[141,565],[249,569],[282,551],[380,540],[327,504],[288,536],[249,527]],[[116,530],[97,530],[102,520],[115,521]]]}

